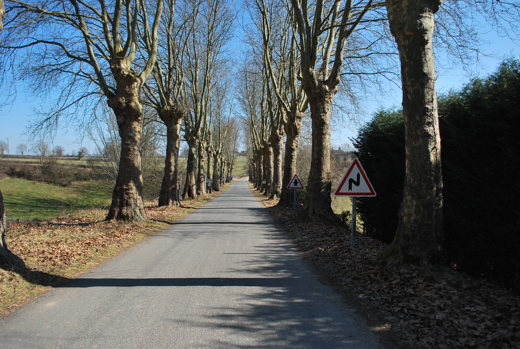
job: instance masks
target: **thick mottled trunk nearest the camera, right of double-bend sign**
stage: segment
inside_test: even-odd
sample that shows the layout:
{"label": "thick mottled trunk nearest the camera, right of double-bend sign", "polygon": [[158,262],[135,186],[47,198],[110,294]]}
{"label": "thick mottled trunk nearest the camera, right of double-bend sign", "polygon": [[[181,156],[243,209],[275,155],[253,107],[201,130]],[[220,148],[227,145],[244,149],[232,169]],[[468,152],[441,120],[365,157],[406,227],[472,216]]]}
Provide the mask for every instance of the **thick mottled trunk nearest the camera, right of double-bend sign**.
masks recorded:
{"label": "thick mottled trunk nearest the camera, right of double-bend sign", "polygon": [[443,182],[432,46],[440,5],[440,0],[386,2],[401,61],[406,146],[405,186],[393,251],[395,259],[405,263],[435,263],[441,257]]}

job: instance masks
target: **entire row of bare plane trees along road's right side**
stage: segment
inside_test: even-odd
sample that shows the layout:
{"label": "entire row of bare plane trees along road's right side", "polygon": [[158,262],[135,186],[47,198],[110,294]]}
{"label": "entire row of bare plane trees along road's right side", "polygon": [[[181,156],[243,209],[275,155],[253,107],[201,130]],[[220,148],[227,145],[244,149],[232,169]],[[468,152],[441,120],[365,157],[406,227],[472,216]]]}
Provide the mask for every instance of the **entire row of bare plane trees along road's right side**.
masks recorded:
{"label": "entire row of bare plane trees along road's right side", "polygon": [[[444,9],[436,22],[441,5]],[[249,135],[250,179],[255,186],[271,198],[280,196],[280,205],[291,204],[283,187],[295,173],[306,113],[311,120],[312,150],[302,213],[336,220],[331,209],[330,167],[334,100],[343,94],[355,104],[355,89],[360,84],[379,82],[373,76],[400,76],[404,124],[396,132],[404,133],[404,187],[398,197],[388,198],[400,202],[397,232],[394,229],[388,239],[393,243],[379,261],[440,261],[443,179],[434,41],[449,44],[456,38],[459,43],[448,50],[463,59],[468,51],[478,49],[478,39],[467,35],[473,32],[474,18],[464,17],[464,10],[470,16],[479,12],[500,27],[503,19],[509,24],[517,21],[519,6],[501,2],[443,4],[440,0],[256,0],[248,9],[254,24],[248,32],[250,59],[242,69],[240,95]],[[436,24],[439,30],[434,35]],[[400,69],[396,69],[398,64]],[[280,172],[283,136],[287,141]]]}

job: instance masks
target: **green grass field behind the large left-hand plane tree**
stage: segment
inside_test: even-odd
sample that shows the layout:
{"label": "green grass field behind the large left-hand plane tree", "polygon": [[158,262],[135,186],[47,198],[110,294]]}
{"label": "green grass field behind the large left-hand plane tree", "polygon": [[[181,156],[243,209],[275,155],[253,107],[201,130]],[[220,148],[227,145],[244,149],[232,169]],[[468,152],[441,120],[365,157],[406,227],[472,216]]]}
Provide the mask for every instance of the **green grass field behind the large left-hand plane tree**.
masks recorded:
{"label": "green grass field behind the large left-hand plane tree", "polygon": [[110,204],[112,188],[102,182],[76,182],[70,187],[31,182],[26,179],[0,179],[8,219],[42,221],[88,208]]}

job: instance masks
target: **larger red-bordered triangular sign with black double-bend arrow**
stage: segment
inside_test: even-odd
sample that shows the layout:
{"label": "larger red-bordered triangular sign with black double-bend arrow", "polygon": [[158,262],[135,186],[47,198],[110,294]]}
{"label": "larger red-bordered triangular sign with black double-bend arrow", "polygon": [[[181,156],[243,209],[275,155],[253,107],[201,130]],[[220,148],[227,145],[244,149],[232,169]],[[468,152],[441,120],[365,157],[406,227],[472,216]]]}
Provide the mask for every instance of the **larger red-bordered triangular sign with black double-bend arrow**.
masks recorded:
{"label": "larger red-bordered triangular sign with black double-bend arrow", "polygon": [[375,190],[357,158],[348,166],[334,196],[375,196]]}

